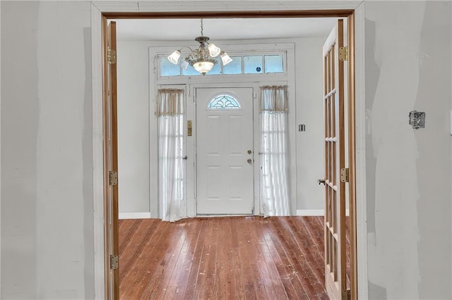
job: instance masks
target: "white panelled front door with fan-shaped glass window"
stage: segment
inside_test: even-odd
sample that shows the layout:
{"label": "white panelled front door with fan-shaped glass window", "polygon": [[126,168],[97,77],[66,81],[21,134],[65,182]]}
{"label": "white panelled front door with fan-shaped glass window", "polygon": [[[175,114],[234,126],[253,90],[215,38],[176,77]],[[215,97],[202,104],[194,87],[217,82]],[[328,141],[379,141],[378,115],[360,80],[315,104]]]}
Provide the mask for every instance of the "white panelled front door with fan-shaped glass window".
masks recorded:
{"label": "white panelled front door with fan-shaped glass window", "polygon": [[254,210],[253,88],[196,88],[196,213]]}

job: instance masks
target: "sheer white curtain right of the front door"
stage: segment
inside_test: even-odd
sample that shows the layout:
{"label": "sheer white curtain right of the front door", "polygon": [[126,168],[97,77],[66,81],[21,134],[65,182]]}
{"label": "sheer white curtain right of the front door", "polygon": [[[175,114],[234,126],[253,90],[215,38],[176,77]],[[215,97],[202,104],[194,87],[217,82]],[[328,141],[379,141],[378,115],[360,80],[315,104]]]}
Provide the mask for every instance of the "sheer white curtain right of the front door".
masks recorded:
{"label": "sheer white curtain right of the front door", "polygon": [[287,86],[261,87],[261,206],[263,214],[289,215]]}

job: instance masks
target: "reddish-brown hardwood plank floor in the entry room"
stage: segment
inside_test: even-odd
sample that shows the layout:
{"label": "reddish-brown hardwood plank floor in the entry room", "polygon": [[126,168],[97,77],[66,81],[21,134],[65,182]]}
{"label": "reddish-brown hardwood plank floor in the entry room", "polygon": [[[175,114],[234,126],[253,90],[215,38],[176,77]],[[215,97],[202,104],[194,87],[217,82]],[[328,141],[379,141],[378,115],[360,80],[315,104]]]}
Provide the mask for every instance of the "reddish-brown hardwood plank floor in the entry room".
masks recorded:
{"label": "reddish-brown hardwood plank floor in the entry room", "polygon": [[119,221],[120,299],[328,299],[323,217]]}

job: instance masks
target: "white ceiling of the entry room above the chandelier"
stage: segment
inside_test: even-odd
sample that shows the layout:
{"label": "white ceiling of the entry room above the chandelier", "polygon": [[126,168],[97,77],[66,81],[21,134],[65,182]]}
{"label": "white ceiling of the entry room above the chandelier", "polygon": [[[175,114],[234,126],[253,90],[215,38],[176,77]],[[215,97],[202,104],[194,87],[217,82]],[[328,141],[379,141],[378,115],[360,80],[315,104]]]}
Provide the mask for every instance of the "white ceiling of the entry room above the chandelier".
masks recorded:
{"label": "white ceiling of the entry room above the chandelier", "polygon": [[[335,18],[218,18],[203,20],[212,40],[326,37]],[[193,40],[201,35],[199,19],[116,20],[119,40]]]}

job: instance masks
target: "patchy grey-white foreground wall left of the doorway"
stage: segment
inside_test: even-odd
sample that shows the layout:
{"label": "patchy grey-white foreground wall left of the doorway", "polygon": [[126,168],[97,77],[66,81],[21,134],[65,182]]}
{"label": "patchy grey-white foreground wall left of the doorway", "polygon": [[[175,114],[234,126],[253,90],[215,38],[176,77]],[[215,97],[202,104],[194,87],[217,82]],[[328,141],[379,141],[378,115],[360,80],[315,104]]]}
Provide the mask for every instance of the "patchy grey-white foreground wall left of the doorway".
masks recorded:
{"label": "patchy grey-white foreground wall left of the doorway", "polygon": [[1,1],[1,299],[93,299],[90,4]]}

